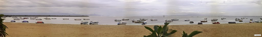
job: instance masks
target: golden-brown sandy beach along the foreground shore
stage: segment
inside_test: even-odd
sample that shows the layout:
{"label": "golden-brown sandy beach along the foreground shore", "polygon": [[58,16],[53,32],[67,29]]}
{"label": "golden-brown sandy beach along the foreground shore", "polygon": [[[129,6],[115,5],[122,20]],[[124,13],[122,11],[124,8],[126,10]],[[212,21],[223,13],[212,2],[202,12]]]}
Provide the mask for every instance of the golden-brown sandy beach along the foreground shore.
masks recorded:
{"label": "golden-brown sandy beach along the foreground shore", "polygon": [[[34,24],[3,23],[8,37],[143,37],[151,33],[144,26],[154,25],[74,25],[74,24]],[[163,25],[161,25],[163,26]],[[262,23],[241,24],[204,24],[204,25],[168,25],[177,30],[170,37],[181,37],[182,32],[203,33],[196,37],[254,37],[262,34]]]}

